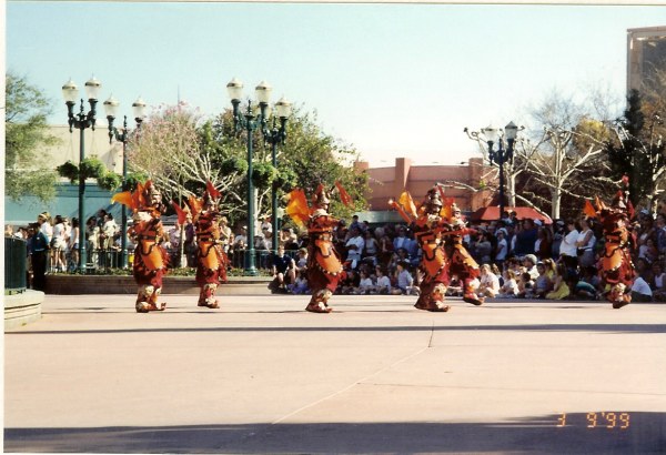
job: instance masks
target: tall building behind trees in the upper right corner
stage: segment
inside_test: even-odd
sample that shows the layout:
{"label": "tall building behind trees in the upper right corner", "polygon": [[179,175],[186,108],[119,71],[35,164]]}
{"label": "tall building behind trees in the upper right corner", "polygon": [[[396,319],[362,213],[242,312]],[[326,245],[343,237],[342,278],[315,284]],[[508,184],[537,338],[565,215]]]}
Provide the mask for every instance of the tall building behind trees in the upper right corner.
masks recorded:
{"label": "tall building behind trees in the upper right corner", "polygon": [[654,80],[666,69],[666,26],[627,30],[627,93]]}

